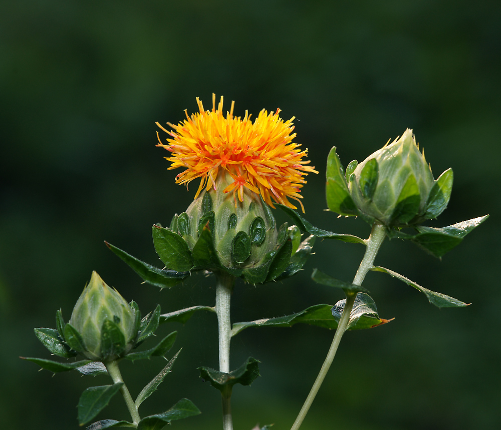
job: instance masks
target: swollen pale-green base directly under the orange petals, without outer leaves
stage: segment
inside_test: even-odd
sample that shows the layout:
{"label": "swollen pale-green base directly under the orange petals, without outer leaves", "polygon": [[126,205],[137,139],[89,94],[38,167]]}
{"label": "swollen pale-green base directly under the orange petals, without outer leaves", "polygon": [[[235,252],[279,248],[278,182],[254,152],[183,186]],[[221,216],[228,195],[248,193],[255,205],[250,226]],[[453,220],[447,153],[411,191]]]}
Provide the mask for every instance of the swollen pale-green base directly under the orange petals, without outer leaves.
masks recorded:
{"label": "swollen pale-green base directly under the orange petals, without outer leaves", "polygon": [[223,190],[233,182],[220,174],[216,187],[202,191],[177,218],[179,233],[190,250],[209,226],[220,263],[228,268],[256,267],[277,242],[275,218],[260,194],[243,188],[243,201]]}

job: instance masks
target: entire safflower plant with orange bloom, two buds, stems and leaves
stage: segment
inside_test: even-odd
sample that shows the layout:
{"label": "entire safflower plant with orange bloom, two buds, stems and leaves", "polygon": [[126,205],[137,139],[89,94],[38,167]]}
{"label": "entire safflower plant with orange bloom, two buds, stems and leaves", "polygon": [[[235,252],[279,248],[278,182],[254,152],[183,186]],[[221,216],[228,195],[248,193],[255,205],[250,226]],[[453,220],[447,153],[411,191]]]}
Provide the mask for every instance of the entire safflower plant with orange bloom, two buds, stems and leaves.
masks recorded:
{"label": "entire safflower plant with orange bloom, two buds, stems and leaves", "polygon": [[[164,357],[173,346],[176,332],[164,337],[149,349],[140,348],[158,325],[186,323],[197,311],[215,313],[218,327],[219,368],[201,365],[200,377],[220,391],[223,430],[233,428],[231,393],[235,384],[250,385],[259,376],[259,361],[247,358],[240,366],[230,366],[231,338],[250,327],[290,327],[308,323],[335,330],[334,338],[319,375],[308,394],[291,430],[300,428],[310,405],[329,370],[341,337],[347,330],[371,328],[387,323],[380,318],[374,300],[362,283],[369,271],[383,272],[416,288],[437,307],[464,307],[466,303],[431,291],[390,269],[375,266],[374,260],[384,239],[400,238],[414,242],[431,255],[441,258],[457,246],[464,236],[481,224],[486,216],[473,218],[443,228],[424,226],[446,208],[452,189],[453,174],[448,169],[434,179],[431,167],[420,152],[412,130],[374,152],[360,164],[352,161],[344,169],[336,148],[327,159],[326,200],[328,209],[341,216],[357,216],[372,227],[369,238],[334,233],[312,225],[302,212],[301,189],[305,176],[318,173],[305,159],[308,151],[294,142],[294,117],[284,121],[275,113],[262,110],[256,120],[233,116],[234,103],[223,114],[223,98],[216,108],[204,110],[197,98],[198,112],[188,115],[167,134],[157,133],[158,147],[168,151],[165,157],[171,169],[184,169],[175,182],[186,186],[199,180],[193,202],[179,215],[174,214],[168,227],[152,227],[153,245],[165,267],[159,268],[133,257],[120,248],[106,245],[146,283],[159,288],[182,284],[196,272],[215,278],[215,305],[196,305],[168,313],[160,306],[141,317],[136,302],[128,303],[93,272],[89,284],[78,299],[69,322],[62,311],[56,313],[56,329],[37,328],[35,334],[50,352],[78,361],[55,361],[24,357],[54,373],[77,370],[84,375],[108,374],[111,385],[90,387],[78,403],[79,424],[88,430],[131,427],[139,430],[163,428],[171,421],[200,413],[188,399],[155,415],[141,417],[139,405],[151,395],[173,367],[180,350],[135,400],[122,378],[119,362]],[[293,202],[291,202],[291,200]],[[284,211],[295,225],[277,226],[270,208]],[[366,252],[352,282],[339,280],[314,269],[312,280],[343,290],[346,298],[334,305],[318,304],[281,317],[256,321],[231,322],[231,294],[237,278],[248,284],[282,281],[302,270],[312,253],[316,238],[330,238],[366,247]],[[206,278],[210,281],[210,277]],[[182,289],[181,289],[182,292]],[[100,419],[89,424],[109,400],[121,392],[131,419]],[[249,424],[249,428],[252,424]],[[270,425],[254,427],[266,430]]]}

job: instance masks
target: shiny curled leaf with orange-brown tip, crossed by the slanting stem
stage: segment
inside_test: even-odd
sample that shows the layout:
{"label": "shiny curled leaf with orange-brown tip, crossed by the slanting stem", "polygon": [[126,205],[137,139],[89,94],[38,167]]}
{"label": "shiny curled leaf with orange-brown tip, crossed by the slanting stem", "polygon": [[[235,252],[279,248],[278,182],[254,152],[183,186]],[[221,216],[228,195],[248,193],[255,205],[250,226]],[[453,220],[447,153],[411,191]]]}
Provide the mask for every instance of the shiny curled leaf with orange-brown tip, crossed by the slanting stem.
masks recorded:
{"label": "shiny curled leaf with orange-brown tip, crossed by the slanting stem", "polygon": [[[346,305],[346,299],[339,300],[332,308],[332,315],[339,323],[341,314]],[[376,303],[371,296],[365,293],[358,293],[355,297],[355,303],[350,313],[348,322],[349,330],[357,330],[362,328],[372,328],[384,324],[390,320],[380,319],[377,314]]]}

